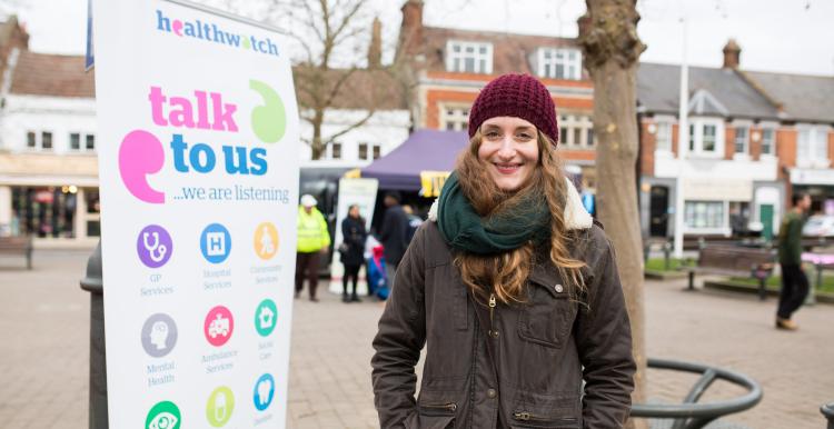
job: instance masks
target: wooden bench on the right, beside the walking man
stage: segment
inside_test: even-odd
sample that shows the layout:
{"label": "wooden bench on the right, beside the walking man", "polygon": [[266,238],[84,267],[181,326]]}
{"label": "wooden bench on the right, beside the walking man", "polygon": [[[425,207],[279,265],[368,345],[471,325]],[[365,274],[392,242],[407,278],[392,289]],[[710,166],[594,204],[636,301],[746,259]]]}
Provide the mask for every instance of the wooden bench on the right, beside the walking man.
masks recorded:
{"label": "wooden bench on the right, beside the walking man", "polygon": [[687,267],[689,290],[695,289],[695,272],[752,277],[758,280],[758,298],[765,299],[765,285],[773,273],[776,255],[770,249],[709,245],[698,252],[698,263]]}

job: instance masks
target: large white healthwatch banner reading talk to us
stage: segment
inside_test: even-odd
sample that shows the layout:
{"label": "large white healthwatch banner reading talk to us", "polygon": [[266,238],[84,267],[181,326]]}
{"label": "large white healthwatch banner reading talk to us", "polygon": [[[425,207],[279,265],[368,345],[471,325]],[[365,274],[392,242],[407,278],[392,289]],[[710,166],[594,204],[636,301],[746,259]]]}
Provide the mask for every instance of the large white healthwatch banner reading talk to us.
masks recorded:
{"label": "large white healthwatch banner reading talk to us", "polygon": [[298,108],[281,37],[96,0],[111,428],[282,428]]}

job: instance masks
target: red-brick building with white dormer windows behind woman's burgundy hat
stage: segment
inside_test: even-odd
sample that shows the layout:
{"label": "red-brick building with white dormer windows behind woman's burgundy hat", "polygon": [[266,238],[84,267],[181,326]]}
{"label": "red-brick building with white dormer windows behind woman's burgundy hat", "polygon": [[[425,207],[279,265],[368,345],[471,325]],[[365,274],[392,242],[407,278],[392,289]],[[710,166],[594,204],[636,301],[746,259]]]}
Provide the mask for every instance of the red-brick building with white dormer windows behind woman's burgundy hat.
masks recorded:
{"label": "red-brick building with white dormer windows behind woman's burgundy hat", "polygon": [[559,153],[593,190],[594,88],[575,39],[427,27],[421,0],[401,10],[397,61],[407,64],[415,128],[466,130],[469,107],[487,82],[510,72],[536,76],[556,103]]}

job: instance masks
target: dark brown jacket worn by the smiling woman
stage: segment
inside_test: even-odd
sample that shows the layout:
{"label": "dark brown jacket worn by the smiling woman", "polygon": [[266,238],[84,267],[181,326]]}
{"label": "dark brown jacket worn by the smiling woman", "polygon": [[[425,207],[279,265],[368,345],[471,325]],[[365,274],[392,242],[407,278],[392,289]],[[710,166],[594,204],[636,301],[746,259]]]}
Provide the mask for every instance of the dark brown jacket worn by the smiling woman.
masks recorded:
{"label": "dark brown jacket worn by the smiling woman", "polygon": [[473,303],[437,225],[425,222],[374,339],[380,426],[620,428],[634,388],[628,316],[605,233],[597,226],[577,232],[572,255],[587,265],[587,306],[568,299],[550,262],[537,265],[528,302],[498,303],[489,330],[487,307]]}

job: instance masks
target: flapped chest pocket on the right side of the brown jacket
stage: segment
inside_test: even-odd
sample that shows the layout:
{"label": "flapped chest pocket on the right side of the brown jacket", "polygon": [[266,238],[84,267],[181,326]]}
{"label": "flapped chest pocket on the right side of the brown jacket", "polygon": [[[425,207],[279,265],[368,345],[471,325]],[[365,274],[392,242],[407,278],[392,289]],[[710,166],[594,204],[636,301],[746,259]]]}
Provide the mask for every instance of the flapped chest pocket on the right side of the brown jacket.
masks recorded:
{"label": "flapped chest pocket on the right side of the brown jacket", "polygon": [[576,315],[567,288],[530,282],[528,290],[529,300],[518,317],[518,336],[540,346],[563,348]]}

